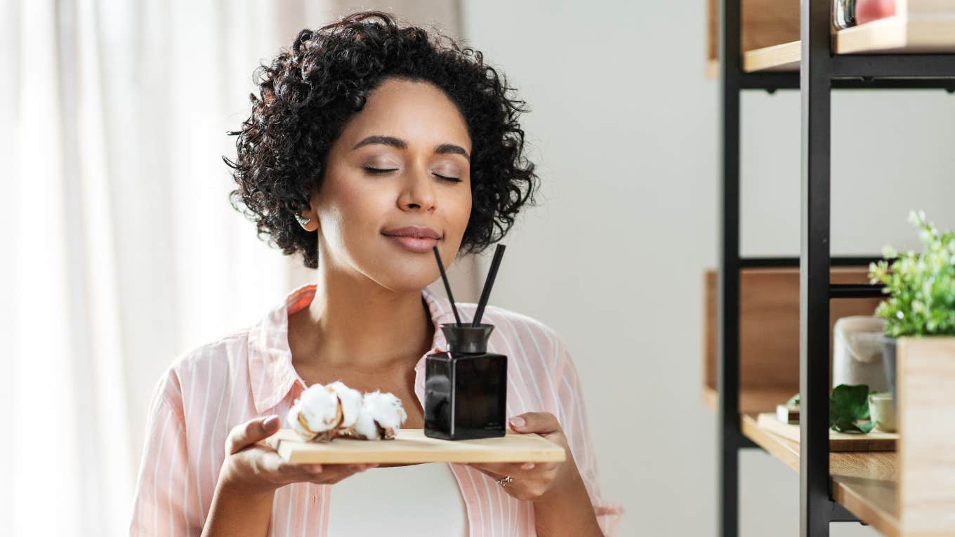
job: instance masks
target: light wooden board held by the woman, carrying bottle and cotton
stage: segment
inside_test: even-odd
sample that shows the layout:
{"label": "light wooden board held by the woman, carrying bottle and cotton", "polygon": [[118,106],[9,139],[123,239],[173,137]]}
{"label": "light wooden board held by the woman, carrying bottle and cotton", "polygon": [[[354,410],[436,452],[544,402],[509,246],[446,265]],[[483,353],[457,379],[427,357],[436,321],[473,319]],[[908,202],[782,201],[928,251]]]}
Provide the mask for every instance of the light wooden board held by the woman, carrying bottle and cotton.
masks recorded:
{"label": "light wooden board held by the woman, carrying bottle and cotton", "polygon": [[441,440],[424,436],[424,429],[399,429],[393,440],[337,438],[303,441],[295,431],[281,429],[265,440],[288,462],[562,462],[566,454],[538,434],[508,430],[495,439]]}

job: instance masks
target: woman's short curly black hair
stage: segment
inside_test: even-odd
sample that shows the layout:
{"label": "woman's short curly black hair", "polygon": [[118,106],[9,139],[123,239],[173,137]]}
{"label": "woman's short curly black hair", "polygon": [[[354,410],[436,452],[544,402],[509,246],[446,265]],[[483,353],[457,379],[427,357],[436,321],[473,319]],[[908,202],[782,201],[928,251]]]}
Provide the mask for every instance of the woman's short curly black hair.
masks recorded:
{"label": "woman's short curly black hair", "polygon": [[[387,12],[359,11],[318,31],[299,32],[290,50],[253,76],[260,95],[249,95],[251,115],[236,140],[232,168],[238,188],[232,206],[256,223],[260,239],[286,255],[301,251],[305,266],[318,267],[315,231],[295,215],[308,208],[321,185],[332,142],[386,78],[434,84],[465,118],[472,140],[472,209],[459,251],[480,252],[503,238],[539,186],[534,163],[524,155],[518,116],[526,102],[483,55],[461,48],[433,30],[399,26]],[[240,207],[244,205],[244,208]]]}

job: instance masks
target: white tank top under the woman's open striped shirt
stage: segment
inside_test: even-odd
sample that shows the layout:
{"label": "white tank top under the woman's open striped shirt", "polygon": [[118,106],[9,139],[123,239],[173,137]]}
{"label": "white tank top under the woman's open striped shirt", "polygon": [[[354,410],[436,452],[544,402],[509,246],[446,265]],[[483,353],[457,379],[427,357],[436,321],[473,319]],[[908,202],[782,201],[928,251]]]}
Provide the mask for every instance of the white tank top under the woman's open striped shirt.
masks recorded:
{"label": "white tank top under the woman's open striped shirt", "polygon": [[464,499],[448,462],[369,468],[331,485],[329,536],[467,537]]}

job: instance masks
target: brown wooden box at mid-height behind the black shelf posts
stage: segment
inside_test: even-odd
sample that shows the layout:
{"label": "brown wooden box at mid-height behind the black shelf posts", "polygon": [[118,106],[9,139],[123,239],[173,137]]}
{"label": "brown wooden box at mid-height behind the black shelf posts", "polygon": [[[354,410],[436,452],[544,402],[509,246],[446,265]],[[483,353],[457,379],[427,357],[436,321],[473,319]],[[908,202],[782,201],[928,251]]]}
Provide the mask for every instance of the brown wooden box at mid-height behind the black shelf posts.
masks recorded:
{"label": "brown wooden box at mid-height behind the black shelf posts", "polygon": [[[834,284],[868,283],[868,268],[832,269]],[[716,271],[704,276],[703,394],[716,405]],[[871,315],[878,298],[833,300],[830,324],[848,315]],[[744,414],[774,412],[799,391],[799,269],[740,271],[739,392]],[[832,334],[830,329],[830,335]],[[830,357],[831,359],[831,357]]]}

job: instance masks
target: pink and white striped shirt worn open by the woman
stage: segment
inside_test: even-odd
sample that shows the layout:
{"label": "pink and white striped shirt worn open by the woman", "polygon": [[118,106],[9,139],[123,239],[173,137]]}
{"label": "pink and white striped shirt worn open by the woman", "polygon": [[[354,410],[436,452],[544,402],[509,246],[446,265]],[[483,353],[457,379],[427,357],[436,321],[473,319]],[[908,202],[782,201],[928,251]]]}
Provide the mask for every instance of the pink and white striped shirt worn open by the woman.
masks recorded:
{"label": "pink and white striped shirt worn open by the woman", "polygon": [[[225,437],[235,425],[262,416],[284,418],[305,382],[292,367],[288,314],[306,308],[310,284],[254,326],[181,354],[159,379],[150,405],[146,440],[133,505],[133,535],[199,535],[224,460]],[[447,349],[439,324],[454,322],[450,302],[422,290],[435,324],[431,354]],[[469,321],[475,304],[458,304]],[[483,322],[495,325],[489,352],[508,357],[507,416],[550,412],[562,424],[597,520],[616,535],[624,513],[603,499],[597,461],[587,429],[577,369],[561,338],[530,317],[488,306]],[[424,404],[424,356],[414,367],[414,393]],[[534,506],[507,495],[494,480],[466,464],[450,464],[464,498],[469,534],[536,535]],[[334,485],[291,483],[275,491],[268,535],[328,533]],[[422,521],[424,523],[425,521]]]}

